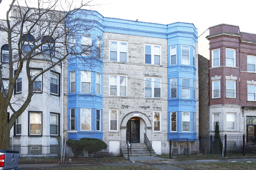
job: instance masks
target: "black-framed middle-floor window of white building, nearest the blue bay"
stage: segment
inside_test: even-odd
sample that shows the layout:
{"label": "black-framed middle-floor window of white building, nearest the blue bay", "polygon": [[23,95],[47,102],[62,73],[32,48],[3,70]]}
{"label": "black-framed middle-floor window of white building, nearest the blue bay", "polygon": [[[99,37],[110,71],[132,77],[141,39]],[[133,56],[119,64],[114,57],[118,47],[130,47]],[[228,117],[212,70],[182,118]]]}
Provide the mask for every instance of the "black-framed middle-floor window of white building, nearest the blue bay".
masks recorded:
{"label": "black-framed middle-floor window of white building, nearest the blue bay", "polygon": [[55,71],[51,71],[50,74],[50,94],[59,96],[60,74]]}

